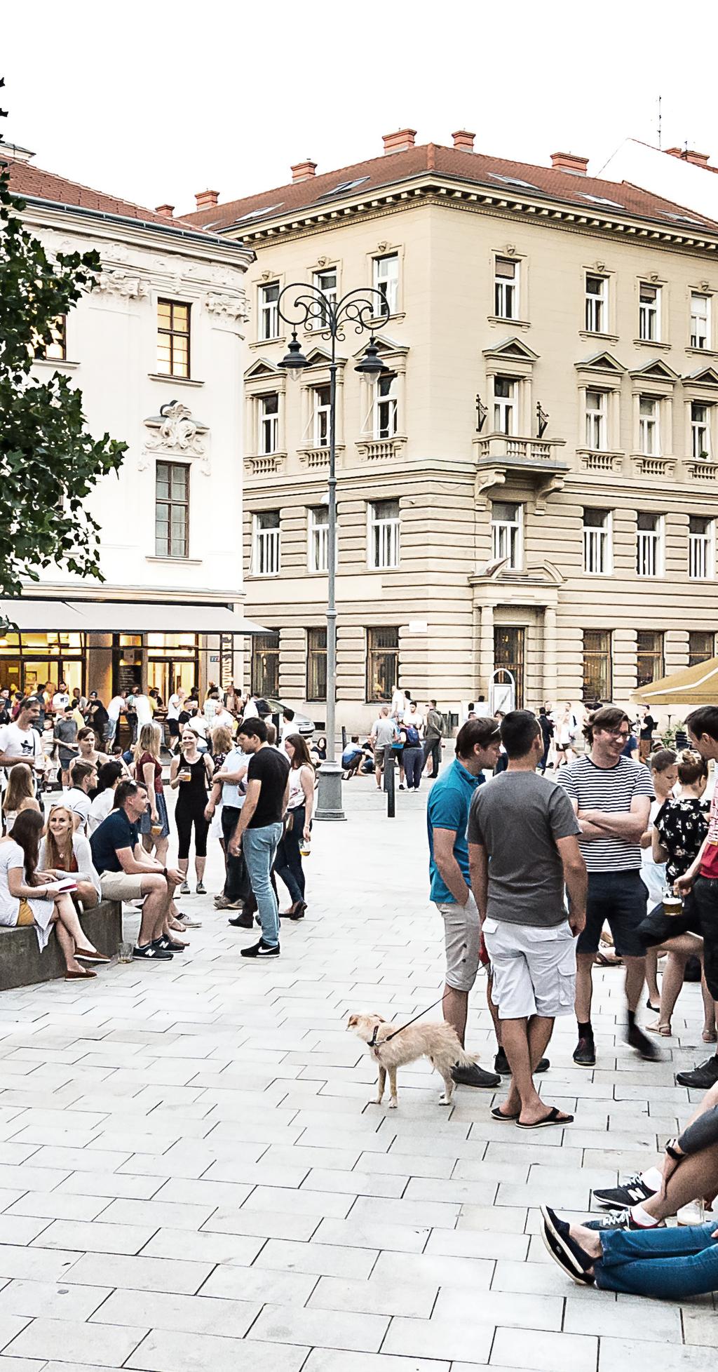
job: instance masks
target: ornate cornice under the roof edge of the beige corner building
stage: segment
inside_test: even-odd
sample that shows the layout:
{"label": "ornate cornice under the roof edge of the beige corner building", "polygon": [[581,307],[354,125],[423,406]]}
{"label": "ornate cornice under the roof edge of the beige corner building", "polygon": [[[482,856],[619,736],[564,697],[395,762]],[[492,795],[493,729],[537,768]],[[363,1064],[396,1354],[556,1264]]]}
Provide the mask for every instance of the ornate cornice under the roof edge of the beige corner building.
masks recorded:
{"label": "ornate cornice under the roof edge of the beige corner building", "polygon": [[548,196],[514,196],[497,192],[491,187],[462,181],[448,174],[421,172],[406,181],[382,187],[375,195],[344,200],[338,204],[317,204],[292,215],[275,215],[258,224],[244,233],[237,225],[229,225],[222,239],[230,235],[245,244],[266,247],[281,239],[301,237],[306,233],[325,232],[338,228],[351,218],[373,218],[377,214],[395,213],[411,206],[433,203],[452,209],[471,210],[482,214],[499,214],[506,218],[526,218],[538,222],[578,229],[592,235],[636,239],[655,247],[684,248],[693,252],[718,252],[718,230],[697,232],[686,228],[671,228],[665,220],[641,220],[628,211],[593,214],[584,207],[552,200]]}

